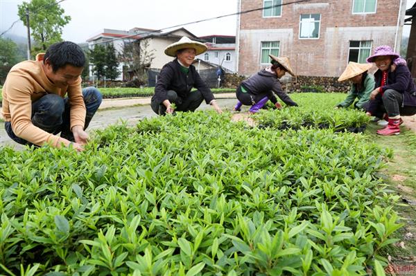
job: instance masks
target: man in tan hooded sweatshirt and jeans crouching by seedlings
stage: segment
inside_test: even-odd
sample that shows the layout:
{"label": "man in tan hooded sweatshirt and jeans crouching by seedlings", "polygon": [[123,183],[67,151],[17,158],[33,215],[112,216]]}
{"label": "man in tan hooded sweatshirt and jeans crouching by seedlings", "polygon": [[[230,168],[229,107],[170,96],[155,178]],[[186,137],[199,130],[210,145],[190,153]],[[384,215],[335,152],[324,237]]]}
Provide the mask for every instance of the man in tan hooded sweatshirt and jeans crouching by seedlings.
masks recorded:
{"label": "man in tan hooded sweatshirt and jeans crouching by seedlings", "polygon": [[72,145],[83,151],[89,138],[85,129],[102,100],[95,87],[81,89],[84,64],[80,46],[59,42],[35,61],[13,66],[3,85],[8,136],[22,145]]}

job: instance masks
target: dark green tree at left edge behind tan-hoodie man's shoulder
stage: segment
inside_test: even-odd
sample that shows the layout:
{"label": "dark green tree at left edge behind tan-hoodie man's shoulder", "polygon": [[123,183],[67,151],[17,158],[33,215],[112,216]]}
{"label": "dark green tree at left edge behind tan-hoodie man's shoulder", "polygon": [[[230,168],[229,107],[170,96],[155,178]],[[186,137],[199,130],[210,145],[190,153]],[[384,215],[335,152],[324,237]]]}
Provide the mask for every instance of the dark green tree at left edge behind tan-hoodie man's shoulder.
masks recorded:
{"label": "dark green tree at left edge behind tan-hoodie man's shoulder", "polygon": [[0,84],[6,80],[6,76],[13,65],[24,60],[19,53],[19,48],[11,39],[0,37]]}

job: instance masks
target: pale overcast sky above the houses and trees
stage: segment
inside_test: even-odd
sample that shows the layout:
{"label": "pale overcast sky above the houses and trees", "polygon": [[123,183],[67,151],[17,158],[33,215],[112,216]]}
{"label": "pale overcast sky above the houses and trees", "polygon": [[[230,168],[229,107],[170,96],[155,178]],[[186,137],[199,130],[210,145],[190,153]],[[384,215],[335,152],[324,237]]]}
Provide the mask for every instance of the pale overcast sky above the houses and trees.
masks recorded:
{"label": "pale overcast sky above the houses and trees", "polygon": [[[338,0],[344,1],[344,0]],[[17,17],[17,5],[23,0],[0,0],[0,33]],[[415,0],[407,0],[410,8]],[[60,3],[71,21],[62,37],[72,42],[85,42],[103,28],[130,30],[141,27],[160,29],[200,19],[228,15],[237,11],[237,0],[64,0]],[[236,16],[184,26],[194,35],[235,35]],[[410,27],[405,26],[408,36]],[[8,32],[26,37],[21,21]]]}

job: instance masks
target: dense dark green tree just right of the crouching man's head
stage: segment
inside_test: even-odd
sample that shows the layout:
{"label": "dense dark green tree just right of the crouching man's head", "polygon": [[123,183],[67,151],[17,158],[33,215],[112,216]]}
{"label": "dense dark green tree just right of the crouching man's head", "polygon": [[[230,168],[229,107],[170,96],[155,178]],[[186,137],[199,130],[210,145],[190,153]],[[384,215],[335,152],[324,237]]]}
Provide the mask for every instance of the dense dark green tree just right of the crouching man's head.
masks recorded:
{"label": "dense dark green tree just right of the crouching man's head", "polygon": [[93,73],[98,80],[103,77],[108,80],[115,80],[119,76],[119,62],[113,44],[107,46],[98,44],[89,51],[89,62],[93,64]]}

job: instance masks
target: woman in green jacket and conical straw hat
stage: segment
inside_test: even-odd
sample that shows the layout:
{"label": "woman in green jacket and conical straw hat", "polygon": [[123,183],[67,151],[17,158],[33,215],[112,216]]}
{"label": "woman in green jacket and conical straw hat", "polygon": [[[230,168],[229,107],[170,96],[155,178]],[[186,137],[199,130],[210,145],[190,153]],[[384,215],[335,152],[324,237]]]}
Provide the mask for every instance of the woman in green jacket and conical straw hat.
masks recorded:
{"label": "woman in green jacket and conical straw hat", "polygon": [[354,107],[356,109],[367,109],[370,93],[374,90],[376,84],[374,76],[367,73],[370,68],[372,68],[372,64],[348,63],[347,68],[338,78],[338,82],[351,81],[351,90],[347,98],[337,104],[336,107],[349,107],[358,98],[358,101],[354,103]]}

